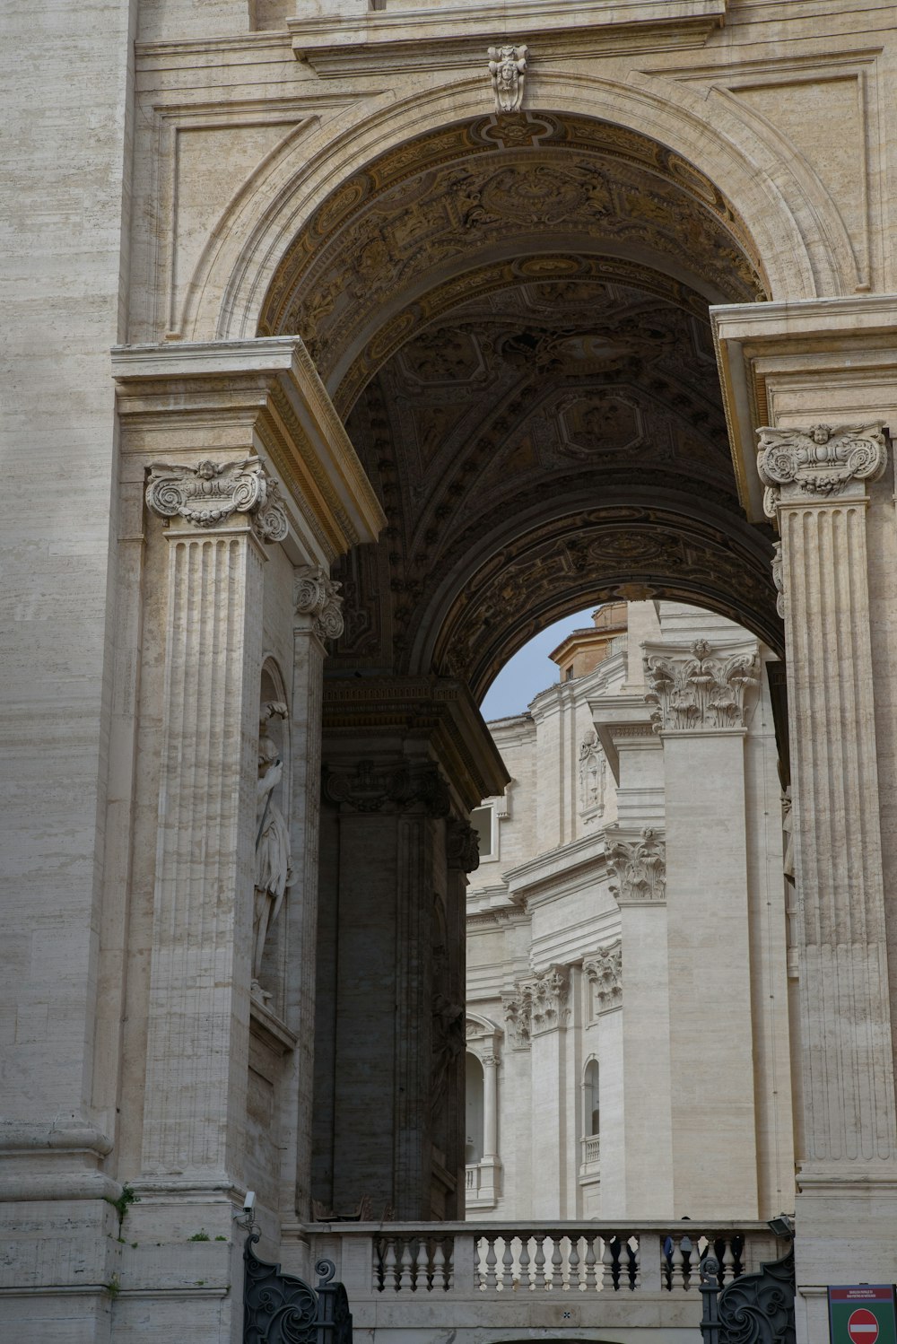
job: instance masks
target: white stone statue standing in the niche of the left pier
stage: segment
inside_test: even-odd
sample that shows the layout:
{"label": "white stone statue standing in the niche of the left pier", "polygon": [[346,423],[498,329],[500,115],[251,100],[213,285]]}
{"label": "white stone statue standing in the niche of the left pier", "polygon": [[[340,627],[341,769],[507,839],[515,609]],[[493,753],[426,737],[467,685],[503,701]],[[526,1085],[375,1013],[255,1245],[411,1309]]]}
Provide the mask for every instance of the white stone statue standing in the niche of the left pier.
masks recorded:
{"label": "white stone statue standing in the niche of the left pier", "polygon": [[271,719],[285,719],[286,715],[287,708],[282,700],[270,700],[262,707],[259,723],[251,992],[262,1000],[271,997],[259,984],[265,943],[271,925],[281,913],[286,888],[293,884],[290,832],[283,813],[274,801],[274,790],[283,775],[283,759],[269,731]]}

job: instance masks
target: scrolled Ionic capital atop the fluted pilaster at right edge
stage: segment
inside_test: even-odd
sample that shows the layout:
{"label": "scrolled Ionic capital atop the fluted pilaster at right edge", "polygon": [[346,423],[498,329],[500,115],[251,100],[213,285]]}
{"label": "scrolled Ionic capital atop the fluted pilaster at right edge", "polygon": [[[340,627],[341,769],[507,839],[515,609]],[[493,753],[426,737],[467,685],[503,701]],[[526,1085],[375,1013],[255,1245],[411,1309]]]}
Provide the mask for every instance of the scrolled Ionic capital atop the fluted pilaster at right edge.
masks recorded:
{"label": "scrolled Ionic capital atop the fluted pilaster at right edge", "polygon": [[757,430],[757,473],[765,485],[763,508],[800,496],[839,495],[851,481],[877,481],[888,465],[882,421],[871,425],[812,425]]}

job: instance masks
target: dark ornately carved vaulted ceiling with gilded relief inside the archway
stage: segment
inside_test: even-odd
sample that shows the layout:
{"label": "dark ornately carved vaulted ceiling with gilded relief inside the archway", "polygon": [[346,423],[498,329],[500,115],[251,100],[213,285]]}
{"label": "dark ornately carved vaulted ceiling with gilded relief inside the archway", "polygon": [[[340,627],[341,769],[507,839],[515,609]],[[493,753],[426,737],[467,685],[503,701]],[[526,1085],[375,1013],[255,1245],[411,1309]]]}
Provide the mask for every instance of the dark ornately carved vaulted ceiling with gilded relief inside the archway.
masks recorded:
{"label": "dark ornately carved vaulted ceiling with gilded relief inside the archway", "polygon": [[389,520],[337,661],[481,695],[549,620],[649,593],[777,644],[708,321],[761,296],[718,192],[602,122],[483,118],[346,183],[262,324],[305,337]]}

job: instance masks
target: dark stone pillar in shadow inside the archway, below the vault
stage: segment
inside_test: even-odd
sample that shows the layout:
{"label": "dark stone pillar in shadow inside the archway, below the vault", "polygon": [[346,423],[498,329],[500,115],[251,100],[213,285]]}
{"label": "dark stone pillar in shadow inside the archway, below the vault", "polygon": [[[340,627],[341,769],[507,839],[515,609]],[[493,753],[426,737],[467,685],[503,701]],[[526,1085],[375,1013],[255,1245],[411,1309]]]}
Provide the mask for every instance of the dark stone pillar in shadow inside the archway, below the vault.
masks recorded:
{"label": "dark stone pillar in shadow inside the archway, below the vault", "polygon": [[324,698],[317,1211],[454,1218],[466,816],[506,775],[455,683],[334,679]]}

